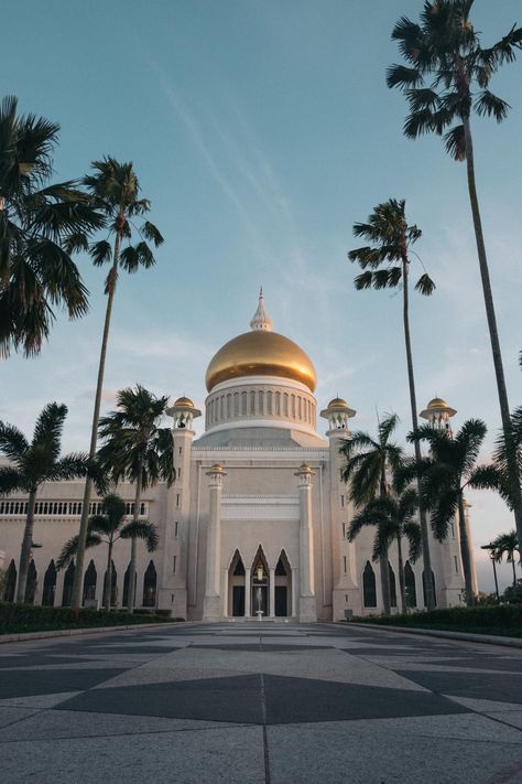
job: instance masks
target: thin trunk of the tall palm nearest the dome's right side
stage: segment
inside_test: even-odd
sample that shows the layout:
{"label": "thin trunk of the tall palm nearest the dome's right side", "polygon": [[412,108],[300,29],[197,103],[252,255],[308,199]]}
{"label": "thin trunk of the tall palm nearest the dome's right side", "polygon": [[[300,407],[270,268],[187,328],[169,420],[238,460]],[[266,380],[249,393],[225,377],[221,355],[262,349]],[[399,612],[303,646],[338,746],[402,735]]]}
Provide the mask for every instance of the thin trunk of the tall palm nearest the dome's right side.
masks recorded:
{"label": "thin trunk of the tall palm nearest the dome's right side", "polygon": [[[404,342],[406,344],[406,364],[407,364],[407,383],[410,387],[410,406],[412,409],[412,426],[416,430],[418,428],[417,419],[417,400],[415,393],[415,376],[413,373],[413,353],[412,353],[412,341],[410,336],[410,293],[407,286],[407,271],[409,262],[407,256],[404,255],[402,258],[402,280],[403,280],[403,322],[404,322]],[[414,442],[415,460],[417,463],[422,460],[421,444],[418,441]],[[433,582],[431,580],[432,574],[432,557],[429,554],[429,533],[427,529],[426,509],[422,504],[421,495],[421,480],[417,479],[417,491],[418,491],[418,517],[421,522],[421,539],[422,539],[422,559],[423,569],[426,574],[424,581],[425,593],[426,593],[426,608],[428,610],[435,610],[435,595],[433,592]]]}

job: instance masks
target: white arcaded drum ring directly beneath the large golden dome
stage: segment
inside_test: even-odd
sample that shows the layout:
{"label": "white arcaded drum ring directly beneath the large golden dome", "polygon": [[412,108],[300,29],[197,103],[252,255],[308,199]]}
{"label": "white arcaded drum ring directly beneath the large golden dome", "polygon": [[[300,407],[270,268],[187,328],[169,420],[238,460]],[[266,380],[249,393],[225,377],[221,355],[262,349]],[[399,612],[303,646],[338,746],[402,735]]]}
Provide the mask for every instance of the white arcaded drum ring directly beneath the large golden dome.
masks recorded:
{"label": "white arcaded drum ring directly beneath the large golden dome", "polygon": [[207,423],[238,417],[284,417],[315,426],[315,405],[304,395],[249,389],[216,395],[207,402]]}

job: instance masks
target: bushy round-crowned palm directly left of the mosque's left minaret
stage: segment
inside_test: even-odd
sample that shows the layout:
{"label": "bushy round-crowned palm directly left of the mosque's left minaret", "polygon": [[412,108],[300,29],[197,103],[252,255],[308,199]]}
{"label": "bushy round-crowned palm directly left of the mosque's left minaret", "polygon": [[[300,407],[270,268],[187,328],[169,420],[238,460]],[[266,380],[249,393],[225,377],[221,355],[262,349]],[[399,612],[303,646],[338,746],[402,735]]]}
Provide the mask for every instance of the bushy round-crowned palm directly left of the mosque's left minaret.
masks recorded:
{"label": "bushy round-crowned palm directly left of the mosque's left minaret", "polygon": [[[104,443],[98,463],[109,479],[134,482],[133,523],[139,522],[142,491],[157,482],[174,481],[174,450],[170,428],[160,427],[168,397],[156,397],[137,384],[135,389],[120,389],[118,410],[100,419]],[[129,612],[134,610],[135,540],[131,543],[129,567]]]}

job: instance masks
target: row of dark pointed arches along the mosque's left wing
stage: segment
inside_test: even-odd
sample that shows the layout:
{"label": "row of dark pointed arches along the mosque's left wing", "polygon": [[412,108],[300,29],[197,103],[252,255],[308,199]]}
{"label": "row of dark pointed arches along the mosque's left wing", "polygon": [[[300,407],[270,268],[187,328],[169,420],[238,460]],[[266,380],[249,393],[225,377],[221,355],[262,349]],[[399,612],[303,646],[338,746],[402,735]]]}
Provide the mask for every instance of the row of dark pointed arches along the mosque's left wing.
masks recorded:
{"label": "row of dark pointed arches along the mosque's left wing", "polygon": [[[74,561],[70,561],[68,565],[67,569],[64,572],[64,581],[62,586],[62,597],[56,595],[56,583],[57,583],[57,577],[58,572],[56,569],[56,565],[54,562],[54,559],[51,560],[50,565],[47,566],[45,572],[44,572],[44,578],[43,578],[43,588],[42,588],[42,605],[44,606],[58,606],[59,604],[62,606],[69,606],[70,601],[73,598],[73,584],[74,584],[74,577],[75,577],[75,571],[76,571],[76,566]],[[122,586],[122,600],[121,600],[121,606],[127,606],[129,602],[129,571],[130,571],[130,563],[127,567],[127,570],[123,574],[123,586]],[[112,561],[112,584],[111,584],[111,605],[117,606],[118,605],[118,571],[115,567],[115,562]],[[3,590],[3,601],[6,602],[13,602],[14,598],[17,595],[17,580],[18,580],[18,570],[17,570],[17,565],[14,563],[14,560],[12,559],[7,572],[6,572],[6,586]],[[138,576],[135,576],[135,580],[138,580]],[[107,586],[108,581],[108,573],[107,570],[105,571],[102,576],[102,587],[104,589]],[[37,584],[39,584],[39,574],[36,571],[36,567],[34,563],[34,559],[31,559],[31,562],[29,565],[29,571],[28,571],[28,581],[25,586],[25,597],[24,601],[28,604],[34,604],[35,598],[36,598],[36,590],[37,590]],[[88,602],[93,602],[96,600],[97,597],[97,589],[98,589],[98,571],[96,569],[95,562],[91,559],[89,561],[89,565],[87,566],[87,569],[85,570],[84,574],[84,588],[83,588],[83,603],[86,604]],[[157,591],[157,572],[156,568],[154,566],[154,561],[151,560],[149,562],[149,566],[145,569],[145,572],[143,574],[143,597],[142,597],[142,606],[144,608],[154,608],[156,604],[156,591]],[[99,591],[98,591],[99,592]],[[104,591],[105,593],[105,591]]]}

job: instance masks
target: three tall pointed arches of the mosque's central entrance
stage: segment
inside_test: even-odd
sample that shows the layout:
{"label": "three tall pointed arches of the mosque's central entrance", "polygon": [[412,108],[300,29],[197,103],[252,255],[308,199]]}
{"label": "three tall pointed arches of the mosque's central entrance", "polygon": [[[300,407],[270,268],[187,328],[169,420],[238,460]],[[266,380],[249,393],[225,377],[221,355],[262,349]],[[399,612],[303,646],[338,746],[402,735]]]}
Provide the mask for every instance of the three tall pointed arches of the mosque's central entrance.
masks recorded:
{"label": "three tall pointed arches of the mosque's central entrance", "polygon": [[232,556],[227,573],[226,614],[235,617],[255,615],[287,617],[293,614],[292,567],[281,550],[275,567],[268,565],[260,546],[246,567],[239,550]]}

